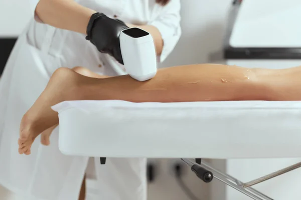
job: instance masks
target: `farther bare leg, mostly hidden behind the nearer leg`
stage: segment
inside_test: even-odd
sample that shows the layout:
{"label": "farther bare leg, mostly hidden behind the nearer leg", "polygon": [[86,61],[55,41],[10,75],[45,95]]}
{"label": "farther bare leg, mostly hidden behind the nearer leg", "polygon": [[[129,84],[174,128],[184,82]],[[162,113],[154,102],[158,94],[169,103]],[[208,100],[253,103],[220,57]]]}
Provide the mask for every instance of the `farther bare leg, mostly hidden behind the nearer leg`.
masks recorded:
{"label": "farther bare leg, mostly hidden behind the nearer leg", "polygon": [[[110,76],[105,76],[105,75],[100,75],[98,73],[95,73],[85,67],[82,67],[82,66],[76,66],[76,67],[73,67],[72,68],[75,72],[79,73],[79,74],[82,74],[82,75],[85,75],[85,76],[88,76],[88,77],[95,77],[95,78],[107,78],[107,77],[110,77]],[[54,130],[54,128],[56,128],[58,126],[58,124],[54,125],[54,126],[51,126],[50,128],[44,130],[42,133],[41,133],[41,143],[44,144],[44,145],[49,145],[50,144],[50,135],[52,133],[52,131]]]}

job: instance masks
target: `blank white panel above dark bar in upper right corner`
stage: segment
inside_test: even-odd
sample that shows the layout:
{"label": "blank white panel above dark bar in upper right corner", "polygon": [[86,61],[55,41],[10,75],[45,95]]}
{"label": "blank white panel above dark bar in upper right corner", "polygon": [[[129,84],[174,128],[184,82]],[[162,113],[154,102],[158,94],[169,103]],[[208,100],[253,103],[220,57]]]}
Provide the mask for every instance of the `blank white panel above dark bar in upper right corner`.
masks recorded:
{"label": "blank white panel above dark bar in upper right corner", "polygon": [[244,0],[233,27],[231,46],[300,47],[301,26],[296,19],[301,18],[301,1],[287,2]]}

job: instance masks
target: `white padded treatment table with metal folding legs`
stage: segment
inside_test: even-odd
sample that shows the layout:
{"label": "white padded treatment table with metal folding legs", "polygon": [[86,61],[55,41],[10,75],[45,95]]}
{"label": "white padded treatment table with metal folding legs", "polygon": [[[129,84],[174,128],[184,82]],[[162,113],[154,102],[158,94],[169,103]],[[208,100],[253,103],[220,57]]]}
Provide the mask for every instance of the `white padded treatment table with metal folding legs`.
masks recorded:
{"label": "white padded treatment table with metal folding legs", "polygon": [[[216,178],[256,200],[271,200],[252,186],[301,162],[249,182],[202,158],[301,157],[301,101],[141,102],[64,101],[59,148],[66,155],[180,158],[205,182]],[[297,149],[297,150],[296,150]]]}

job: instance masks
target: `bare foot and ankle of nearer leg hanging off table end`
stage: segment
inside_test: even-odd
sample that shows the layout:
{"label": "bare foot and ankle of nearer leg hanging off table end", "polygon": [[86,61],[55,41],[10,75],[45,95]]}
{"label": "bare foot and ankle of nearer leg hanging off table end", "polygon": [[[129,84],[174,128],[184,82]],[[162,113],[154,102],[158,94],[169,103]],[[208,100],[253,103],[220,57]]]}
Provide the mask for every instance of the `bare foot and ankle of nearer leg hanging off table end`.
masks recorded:
{"label": "bare foot and ankle of nearer leg hanging off table end", "polygon": [[63,67],[53,73],[45,90],[22,118],[18,140],[20,154],[30,154],[35,138],[46,129],[58,124],[58,113],[52,110],[51,106],[75,98],[78,76],[82,75]]}

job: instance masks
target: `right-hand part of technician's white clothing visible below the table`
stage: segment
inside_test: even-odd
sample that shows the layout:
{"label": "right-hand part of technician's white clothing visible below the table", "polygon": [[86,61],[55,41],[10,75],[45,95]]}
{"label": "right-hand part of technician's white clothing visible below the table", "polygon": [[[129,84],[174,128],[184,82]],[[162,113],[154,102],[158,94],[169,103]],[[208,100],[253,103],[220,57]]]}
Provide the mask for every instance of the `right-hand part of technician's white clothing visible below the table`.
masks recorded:
{"label": "right-hand part of technician's white clothing visible below the table", "polygon": [[95,157],[98,199],[146,200],[146,158]]}

